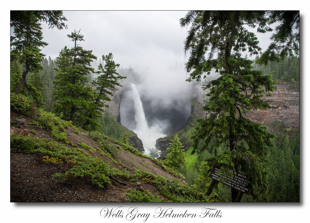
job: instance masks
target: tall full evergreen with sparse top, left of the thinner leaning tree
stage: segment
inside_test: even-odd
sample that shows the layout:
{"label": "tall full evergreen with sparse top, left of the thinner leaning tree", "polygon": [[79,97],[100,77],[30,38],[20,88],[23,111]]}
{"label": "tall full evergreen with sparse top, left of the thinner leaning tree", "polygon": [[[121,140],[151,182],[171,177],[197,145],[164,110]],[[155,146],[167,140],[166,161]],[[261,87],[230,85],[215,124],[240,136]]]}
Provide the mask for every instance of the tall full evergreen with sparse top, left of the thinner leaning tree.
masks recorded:
{"label": "tall full evergreen with sparse top, left of the thinner leaning tree", "polygon": [[93,100],[91,89],[86,88],[87,75],[94,71],[90,67],[91,61],[97,59],[92,50],[84,50],[78,46],[77,41],[84,41],[80,31],[72,32],[68,37],[74,42],[74,47],[66,46],[56,58],[54,88],[52,94],[56,101],[53,105],[55,114],[62,115],[64,120],[71,120],[73,124],[81,125],[85,121],[83,111],[89,107]]}

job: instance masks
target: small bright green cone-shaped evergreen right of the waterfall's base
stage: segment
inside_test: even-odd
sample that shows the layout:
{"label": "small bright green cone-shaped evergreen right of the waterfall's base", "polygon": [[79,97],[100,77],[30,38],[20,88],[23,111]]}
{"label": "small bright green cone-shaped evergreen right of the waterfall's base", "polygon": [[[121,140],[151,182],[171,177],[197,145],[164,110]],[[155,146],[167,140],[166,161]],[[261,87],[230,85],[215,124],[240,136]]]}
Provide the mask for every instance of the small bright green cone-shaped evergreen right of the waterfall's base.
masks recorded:
{"label": "small bright green cone-shaped evergreen right of the waterfall's base", "polygon": [[184,149],[181,149],[182,144],[179,141],[178,135],[175,135],[174,140],[171,140],[170,146],[167,148],[170,153],[166,155],[165,164],[172,169],[181,170],[186,162],[186,155]]}

